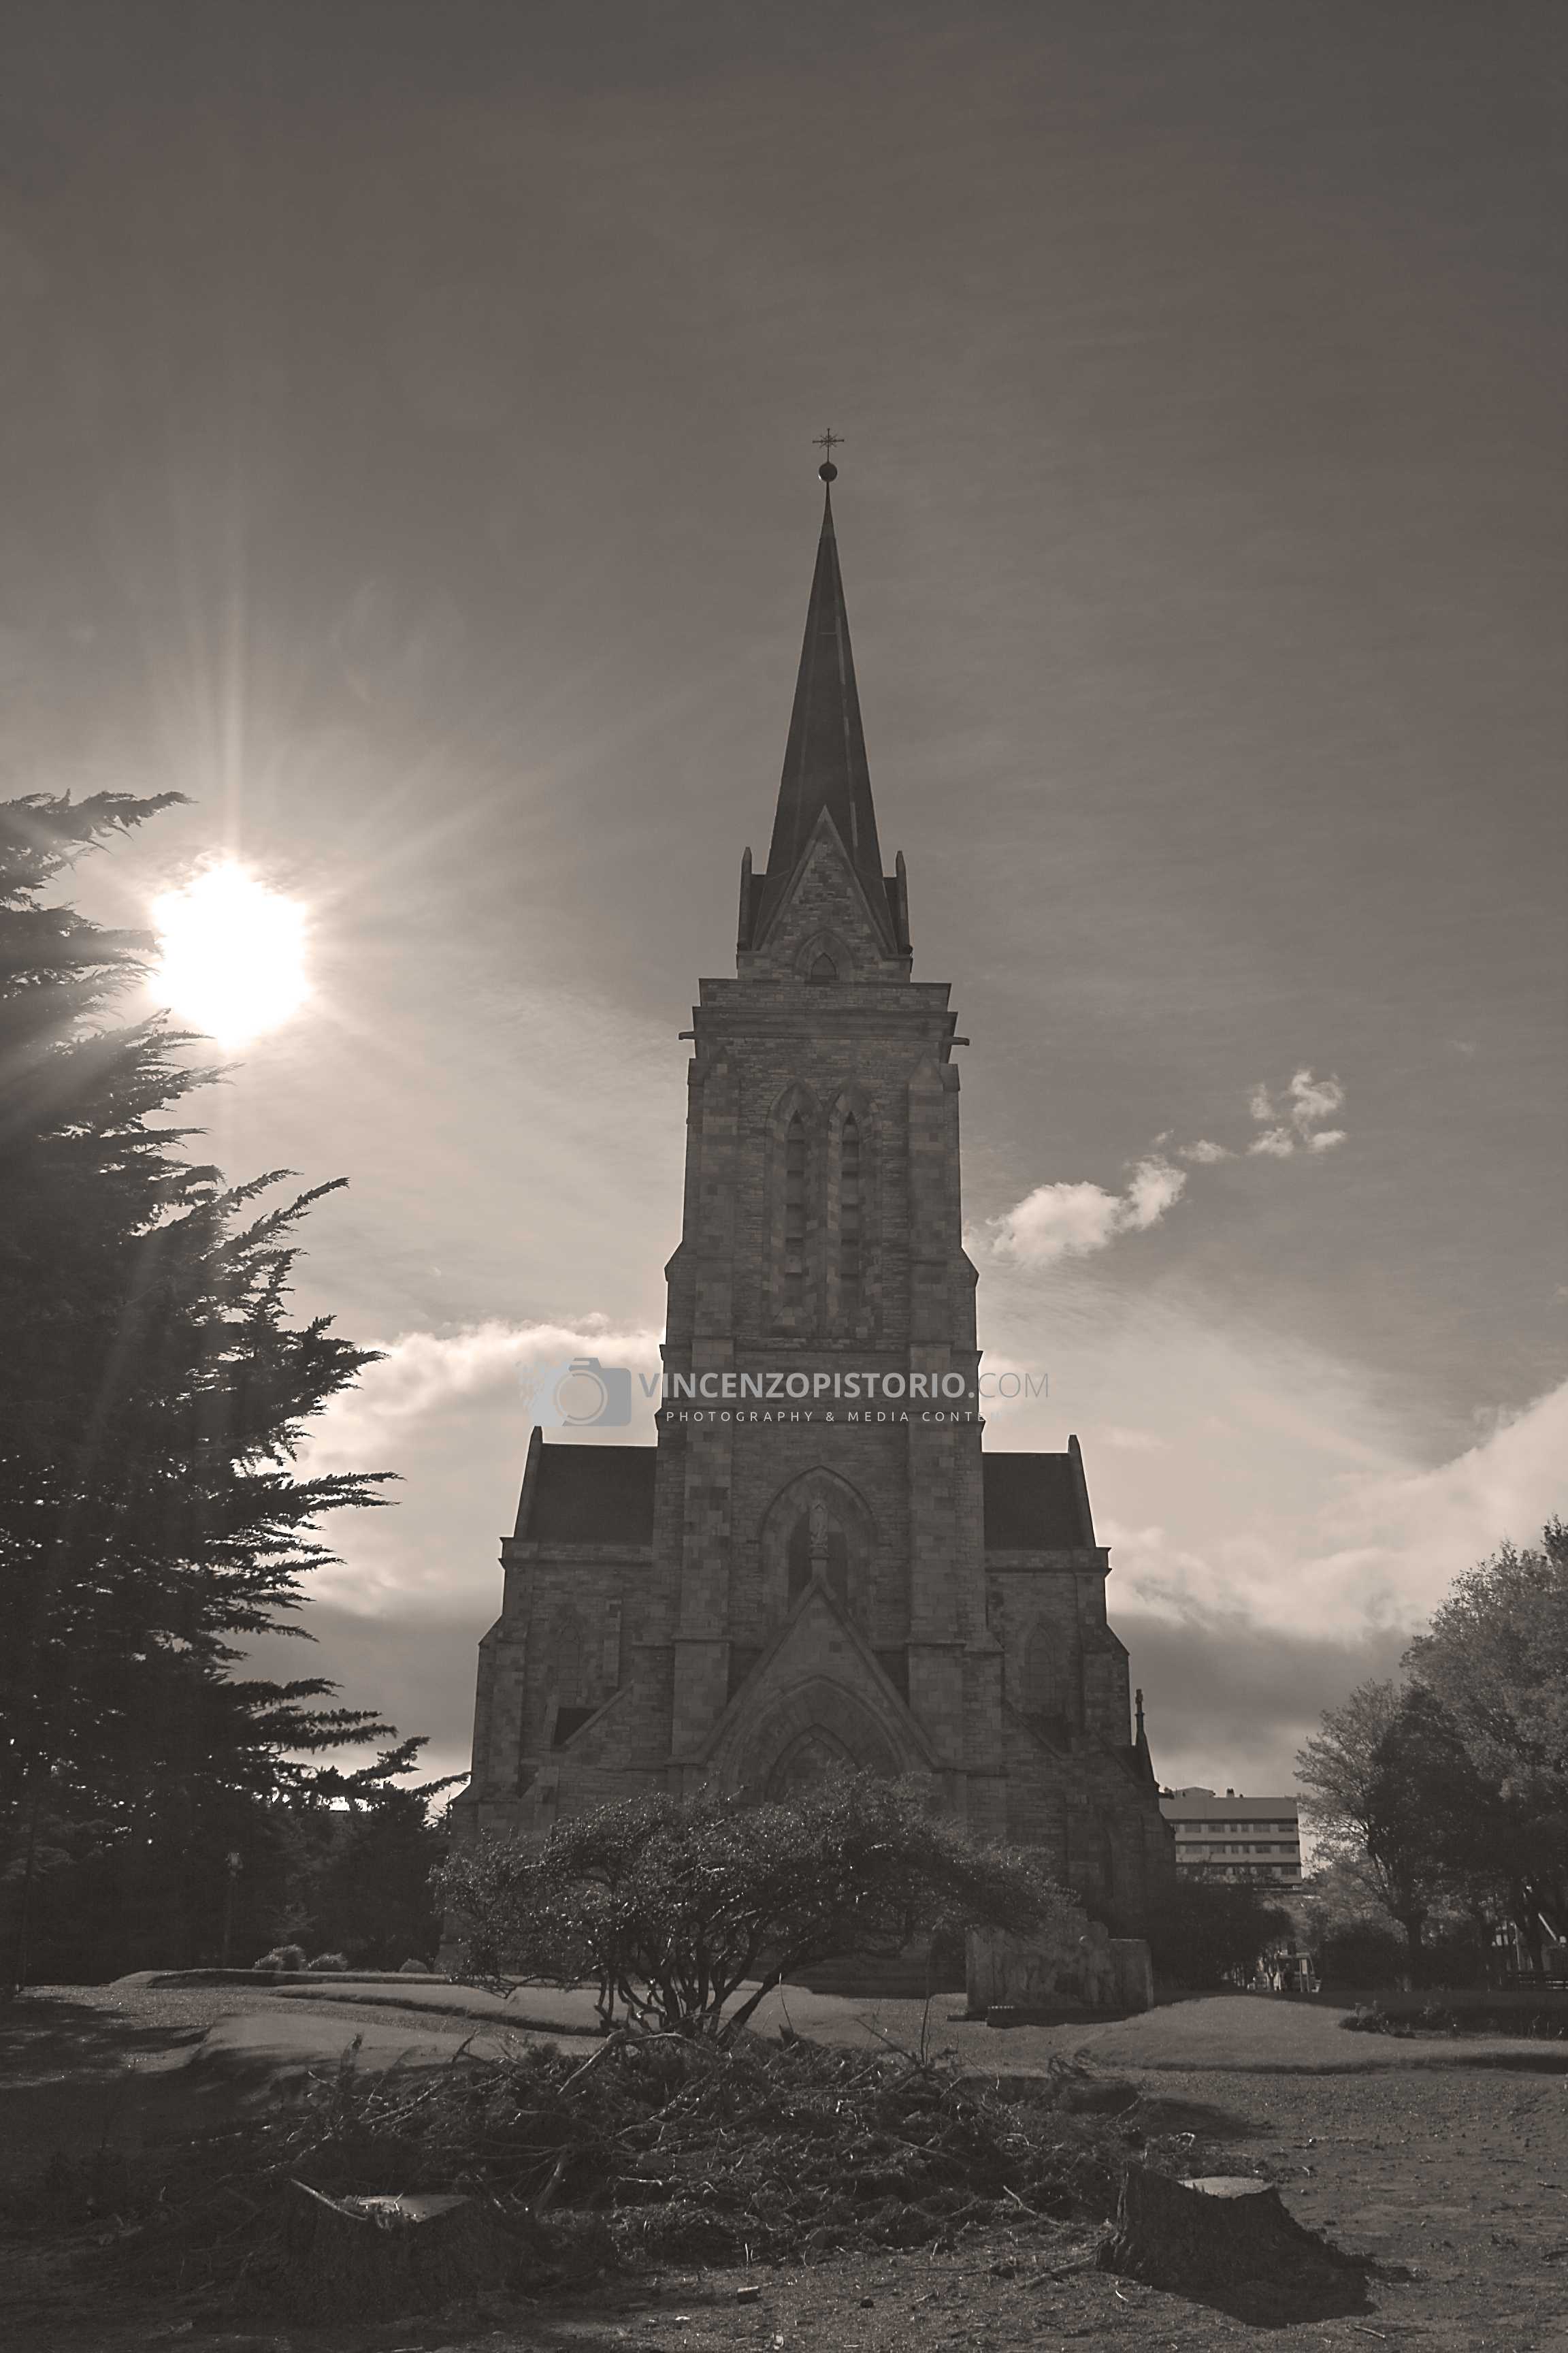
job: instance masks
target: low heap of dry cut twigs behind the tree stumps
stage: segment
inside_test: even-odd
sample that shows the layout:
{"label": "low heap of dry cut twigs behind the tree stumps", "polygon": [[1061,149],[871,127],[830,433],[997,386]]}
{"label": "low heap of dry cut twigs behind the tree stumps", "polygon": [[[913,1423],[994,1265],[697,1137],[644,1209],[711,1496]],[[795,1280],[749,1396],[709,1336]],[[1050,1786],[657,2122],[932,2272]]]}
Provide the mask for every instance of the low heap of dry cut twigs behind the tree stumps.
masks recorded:
{"label": "low heap of dry cut twigs behind the tree stumps", "polygon": [[531,2045],[437,2075],[364,2075],[346,2054],[289,2113],[176,2165],[113,2259],[167,2289],[275,2294],[284,2195],[308,2184],[480,2195],[534,2282],[790,2261],[1103,2221],[1124,2158],[1126,2127],[896,2052],[616,2035],[590,2059]]}

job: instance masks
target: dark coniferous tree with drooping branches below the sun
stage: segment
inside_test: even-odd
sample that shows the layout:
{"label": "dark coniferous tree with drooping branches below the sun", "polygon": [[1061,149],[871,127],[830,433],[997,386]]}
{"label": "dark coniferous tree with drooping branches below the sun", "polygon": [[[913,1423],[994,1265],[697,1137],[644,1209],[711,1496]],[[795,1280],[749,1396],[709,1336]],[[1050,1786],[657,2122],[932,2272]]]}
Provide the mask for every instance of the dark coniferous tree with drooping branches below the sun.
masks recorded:
{"label": "dark coniferous tree with drooping branches below the sun", "polygon": [[[148,941],[45,904],[179,795],[0,805],[0,1840],[42,1814],[190,1845],[197,1817],[301,1795],[292,1755],[393,1737],[334,1687],[235,1680],[331,1558],[322,1513],[376,1478],[296,1475],[371,1353],[289,1320],[294,1233],[334,1186],[256,1209],[172,1122],[216,1073],[165,1019],[115,1024]],[[289,1628],[299,1631],[299,1628]],[[407,1769],[414,1748],[400,1751]],[[343,1779],[343,1777],[339,1777]]]}

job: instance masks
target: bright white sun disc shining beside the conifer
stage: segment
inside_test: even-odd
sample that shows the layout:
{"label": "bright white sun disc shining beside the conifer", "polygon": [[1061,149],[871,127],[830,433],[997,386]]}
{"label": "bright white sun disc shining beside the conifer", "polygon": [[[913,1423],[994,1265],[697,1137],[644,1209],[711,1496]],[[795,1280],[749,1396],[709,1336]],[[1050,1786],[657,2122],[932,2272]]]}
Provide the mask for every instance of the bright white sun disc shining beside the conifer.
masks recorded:
{"label": "bright white sun disc shining beside the conifer", "polygon": [[153,906],[162,960],[155,995],[219,1045],[244,1045],[299,1012],[306,911],[244,866],[209,866]]}

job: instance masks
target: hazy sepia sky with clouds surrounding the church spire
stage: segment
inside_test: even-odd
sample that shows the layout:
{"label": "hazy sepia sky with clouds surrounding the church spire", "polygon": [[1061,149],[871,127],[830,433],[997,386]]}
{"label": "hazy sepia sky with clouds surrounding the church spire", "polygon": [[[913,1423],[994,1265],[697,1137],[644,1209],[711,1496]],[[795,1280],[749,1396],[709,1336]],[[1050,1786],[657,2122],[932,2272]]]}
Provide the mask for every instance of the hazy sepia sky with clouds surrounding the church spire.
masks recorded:
{"label": "hazy sepia sky with clouds surrounding the church spire", "polygon": [[205,1151],[350,1181],[313,1461],[402,1485],[308,1664],[440,1769],[520,1365],[654,1360],[825,426],[1048,1381],[987,1445],[1077,1431],[1161,1777],[1288,1788],[1563,1506],[1561,64],[1514,0],[12,0],[0,791],[188,795],[106,920],[306,911]]}

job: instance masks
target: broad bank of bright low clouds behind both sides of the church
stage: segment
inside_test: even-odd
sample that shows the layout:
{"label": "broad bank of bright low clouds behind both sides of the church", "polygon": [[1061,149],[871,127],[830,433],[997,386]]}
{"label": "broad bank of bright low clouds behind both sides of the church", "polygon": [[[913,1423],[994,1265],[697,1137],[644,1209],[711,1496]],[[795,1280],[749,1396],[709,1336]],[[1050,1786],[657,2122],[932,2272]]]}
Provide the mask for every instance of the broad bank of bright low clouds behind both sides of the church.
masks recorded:
{"label": "broad bank of bright low clouds behind both sides of the church", "polygon": [[[1387,1673],[1465,1567],[1563,1508],[1568,1384],[1425,1461],[1366,1374],[1295,1337],[1229,1332],[1201,1306],[1147,1297],[1112,1313],[1077,1264],[1056,1282],[1051,1393],[1011,1402],[990,1438],[1063,1447],[1081,1433],[1112,1546],[1112,1624],[1147,1692],[1161,1777],[1288,1788],[1321,1708]],[[987,1367],[1039,1367],[1039,1294],[999,1266],[983,1289]],[[433,1772],[461,1769],[534,1421],[522,1374],[574,1355],[651,1374],[658,1334],[583,1315],[386,1346],[320,1417],[308,1468],[397,1471],[395,1508],[324,1522],[343,1565],[310,1579],[313,1654],[270,1640],[252,1657],[259,1671],[336,1675],[348,1701],[430,1732]],[[607,1438],[651,1438],[637,1381],[632,1400],[635,1426]]]}

